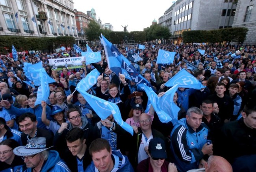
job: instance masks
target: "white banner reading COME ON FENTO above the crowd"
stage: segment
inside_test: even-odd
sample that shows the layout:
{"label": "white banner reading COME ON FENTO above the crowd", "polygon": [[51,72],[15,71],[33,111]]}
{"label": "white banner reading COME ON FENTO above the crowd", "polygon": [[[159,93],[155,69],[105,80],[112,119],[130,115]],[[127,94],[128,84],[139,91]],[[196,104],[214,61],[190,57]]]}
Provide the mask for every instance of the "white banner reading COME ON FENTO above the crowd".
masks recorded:
{"label": "white banner reading COME ON FENTO above the crowd", "polygon": [[62,70],[85,67],[85,57],[67,57],[60,59],[49,59],[52,70]]}

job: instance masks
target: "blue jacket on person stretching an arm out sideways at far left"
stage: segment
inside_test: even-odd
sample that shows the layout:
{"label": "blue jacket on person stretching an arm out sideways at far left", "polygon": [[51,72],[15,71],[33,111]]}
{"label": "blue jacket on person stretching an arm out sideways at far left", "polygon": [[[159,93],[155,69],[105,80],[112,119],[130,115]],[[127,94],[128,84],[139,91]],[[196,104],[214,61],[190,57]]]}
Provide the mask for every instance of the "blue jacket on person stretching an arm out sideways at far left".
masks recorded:
{"label": "blue jacket on person stretching an arm out sideways at far left", "polygon": [[[16,108],[14,106],[11,106],[11,108],[9,109],[6,109],[8,113],[10,114],[13,114],[13,115],[16,115],[16,116],[20,116],[22,115],[23,113],[27,113],[27,112],[30,112],[32,114],[34,114],[36,117],[37,117],[37,127],[38,128],[44,128],[46,129],[46,126],[45,124],[43,123],[42,119],[41,119],[41,115],[42,115],[42,106],[39,104],[38,106],[36,106],[35,108],[26,108],[26,109],[19,109],[19,108]],[[46,116],[47,116],[47,119],[52,119],[52,117],[50,116],[51,115],[51,108],[49,106],[46,106]]]}

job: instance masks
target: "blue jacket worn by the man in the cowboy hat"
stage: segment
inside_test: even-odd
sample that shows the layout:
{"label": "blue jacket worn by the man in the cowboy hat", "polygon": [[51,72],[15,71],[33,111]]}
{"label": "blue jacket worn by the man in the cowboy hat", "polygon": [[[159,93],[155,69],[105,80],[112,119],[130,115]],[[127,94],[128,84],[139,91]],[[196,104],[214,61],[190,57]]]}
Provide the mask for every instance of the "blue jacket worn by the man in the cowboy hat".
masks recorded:
{"label": "blue jacket worn by the man in the cowboy hat", "polygon": [[[67,165],[59,157],[59,153],[55,150],[49,150],[49,156],[41,172],[71,172]],[[27,168],[24,172],[32,172],[32,168]]]}

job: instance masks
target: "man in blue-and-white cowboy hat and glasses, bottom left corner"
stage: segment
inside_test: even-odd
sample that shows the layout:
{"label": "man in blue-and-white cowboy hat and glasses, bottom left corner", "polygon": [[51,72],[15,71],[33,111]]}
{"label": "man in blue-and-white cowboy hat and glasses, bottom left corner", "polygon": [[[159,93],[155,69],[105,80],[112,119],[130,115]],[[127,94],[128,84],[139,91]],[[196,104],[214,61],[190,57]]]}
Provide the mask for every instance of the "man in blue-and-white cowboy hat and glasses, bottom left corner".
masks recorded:
{"label": "man in blue-and-white cowboy hat and glasses, bottom left corner", "polygon": [[71,172],[57,151],[48,150],[51,147],[46,148],[45,137],[33,137],[26,146],[15,148],[13,153],[24,159],[27,167],[24,172]]}

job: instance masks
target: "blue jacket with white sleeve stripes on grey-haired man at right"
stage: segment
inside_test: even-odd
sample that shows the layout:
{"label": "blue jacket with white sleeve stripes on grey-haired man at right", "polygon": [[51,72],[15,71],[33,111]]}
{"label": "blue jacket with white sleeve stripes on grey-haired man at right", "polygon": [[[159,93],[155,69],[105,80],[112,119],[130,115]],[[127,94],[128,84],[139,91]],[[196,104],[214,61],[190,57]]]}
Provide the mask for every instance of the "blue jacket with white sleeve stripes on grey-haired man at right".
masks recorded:
{"label": "blue jacket with white sleeve stripes on grey-haired man at right", "polygon": [[178,171],[186,172],[198,167],[204,156],[201,151],[207,142],[208,128],[201,123],[196,132],[187,124],[186,118],[174,124],[171,132],[171,151]]}

